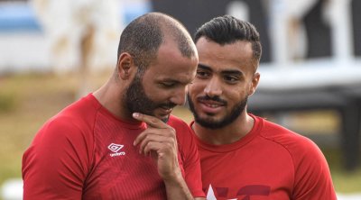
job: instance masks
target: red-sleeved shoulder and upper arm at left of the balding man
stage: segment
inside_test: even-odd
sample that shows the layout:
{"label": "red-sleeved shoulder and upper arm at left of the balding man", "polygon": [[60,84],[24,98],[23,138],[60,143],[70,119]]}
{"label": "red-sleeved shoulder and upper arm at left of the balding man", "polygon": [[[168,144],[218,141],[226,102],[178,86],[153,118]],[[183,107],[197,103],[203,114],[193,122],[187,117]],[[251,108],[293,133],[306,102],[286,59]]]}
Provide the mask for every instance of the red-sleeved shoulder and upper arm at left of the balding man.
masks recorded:
{"label": "red-sleeved shoulder and upper arm at left of the balding man", "polygon": [[23,153],[26,196],[49,198],[59,190],[79,195],[94,161],[94,136],[89,125],[95,122],[93,111],[94,106],[83,98],[42,126]]}

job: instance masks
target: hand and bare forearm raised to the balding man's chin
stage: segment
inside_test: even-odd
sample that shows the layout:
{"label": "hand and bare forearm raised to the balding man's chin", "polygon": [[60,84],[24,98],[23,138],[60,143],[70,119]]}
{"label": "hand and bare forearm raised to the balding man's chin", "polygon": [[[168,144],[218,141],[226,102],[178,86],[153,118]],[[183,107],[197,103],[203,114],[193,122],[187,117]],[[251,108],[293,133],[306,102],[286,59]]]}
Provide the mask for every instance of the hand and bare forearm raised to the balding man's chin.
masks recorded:
{"label": "hand and bare forearm raised to the balding man's chin", "polygon": [[144,155],[153,156],[164,181],[167,198],[193,199],[181,174],[175,130],[153,116],[134,114],[134,118],[148,125],[135,139],[134,145],[139,145],[139,151]]}

